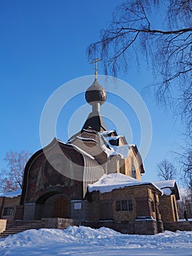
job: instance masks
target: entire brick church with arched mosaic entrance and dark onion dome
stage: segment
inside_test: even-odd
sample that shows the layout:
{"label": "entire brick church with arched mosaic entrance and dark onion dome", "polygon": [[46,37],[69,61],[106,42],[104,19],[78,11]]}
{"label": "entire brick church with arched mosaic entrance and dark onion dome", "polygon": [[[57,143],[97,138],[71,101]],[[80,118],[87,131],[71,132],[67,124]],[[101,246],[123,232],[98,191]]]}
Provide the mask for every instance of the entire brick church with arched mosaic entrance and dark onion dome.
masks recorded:
{"label": "entire brick church with arched mosaic entrance and dark onion dome", "polygon": [[[101,116],[106,98],[96,75],[85,91],[92,110],[82,129],[67,143],[53,138],[28,160],[18,201],[0,197],[0,219],[41,220],[42,227],[105,226],[137,234],[162,232],[164,222],[178,220],[177,184],[142,182],[145,168],[137,146],[109,131]],[[6,208],[12,208],[10,216]]]}

